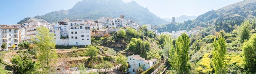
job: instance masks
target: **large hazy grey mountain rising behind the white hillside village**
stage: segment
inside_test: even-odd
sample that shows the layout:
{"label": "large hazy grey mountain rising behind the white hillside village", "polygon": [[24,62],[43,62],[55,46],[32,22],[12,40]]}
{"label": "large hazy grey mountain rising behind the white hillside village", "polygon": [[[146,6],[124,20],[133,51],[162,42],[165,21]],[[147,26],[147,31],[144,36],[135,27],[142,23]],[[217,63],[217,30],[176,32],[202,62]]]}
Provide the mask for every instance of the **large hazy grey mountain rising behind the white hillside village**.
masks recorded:
{"label": "large hazy grey mountain rising behind the white hillside village", "polygon": [[122,14],[125,19],[133,20],[138,24],[158,25],[167,23],[135,1],[125,3],[122,0],[82,0],[76,3],[72,9],[54,11],[34,18],[43,19],[47,22],[58,22],[65,18],[97,20],[102,16],[120,17]]}

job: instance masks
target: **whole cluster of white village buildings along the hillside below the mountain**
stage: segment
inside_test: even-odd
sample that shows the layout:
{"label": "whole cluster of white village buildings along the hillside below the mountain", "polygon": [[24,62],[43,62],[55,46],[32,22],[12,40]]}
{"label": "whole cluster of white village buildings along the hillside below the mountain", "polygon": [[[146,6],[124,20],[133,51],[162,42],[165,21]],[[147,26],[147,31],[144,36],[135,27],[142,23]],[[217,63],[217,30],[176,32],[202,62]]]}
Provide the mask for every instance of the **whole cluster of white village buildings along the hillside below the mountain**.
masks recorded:
{"label": "whole cluster of white village buildings along the hillside below the mountain", "polygon": [[[146,24],[148,30],[157,34],[157,29]],[[124,15],[117,18],[100,17],[98,20],[75,20],[64,19],[60,22],[28,22],[24,24],[0,25],[0,46],[7,43],[7,48],[17,46],[20,42],[32,42],[36,36],[36,28],[44,26],[54,33],[56,45],[60,46],[80,46],[91,45],[91,36],[103,37],[110,36],[110,33],[117,31],[119,28],[132,27],[138,30],[139,24],[132,20],[124,19]],[[2,48],[1,48],[2,49]]]}

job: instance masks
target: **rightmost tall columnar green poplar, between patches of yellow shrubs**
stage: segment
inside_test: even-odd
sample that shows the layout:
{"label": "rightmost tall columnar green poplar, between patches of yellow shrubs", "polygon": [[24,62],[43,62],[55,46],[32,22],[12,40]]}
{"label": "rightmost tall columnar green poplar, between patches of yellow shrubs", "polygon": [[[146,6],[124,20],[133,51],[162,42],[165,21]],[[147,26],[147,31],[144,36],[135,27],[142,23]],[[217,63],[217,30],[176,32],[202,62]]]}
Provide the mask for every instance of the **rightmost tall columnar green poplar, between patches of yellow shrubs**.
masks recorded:
{"label": "rightmost tall columnar green poplar, between patches of yellow shrubs", "polygon": [[218,37],[218,41],[216,38],[213,41],[213,68],[216,74],[226,74],[226,41],[222,36]]}

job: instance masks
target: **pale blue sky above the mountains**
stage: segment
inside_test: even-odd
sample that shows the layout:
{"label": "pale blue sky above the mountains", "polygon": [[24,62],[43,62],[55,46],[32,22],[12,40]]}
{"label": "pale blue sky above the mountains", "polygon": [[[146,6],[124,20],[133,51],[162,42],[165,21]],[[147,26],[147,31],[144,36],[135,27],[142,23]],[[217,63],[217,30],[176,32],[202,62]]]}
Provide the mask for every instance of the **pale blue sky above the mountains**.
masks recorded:
{"label": "pale blue sky above the mountains", "polygon": [[[25,17],[71,9],[81,0],[0,0],[0,24],[16,24]],[[132,0],[123,0],[131,2]],[[195,15],[242,0],[134,0],[161,18]]]}

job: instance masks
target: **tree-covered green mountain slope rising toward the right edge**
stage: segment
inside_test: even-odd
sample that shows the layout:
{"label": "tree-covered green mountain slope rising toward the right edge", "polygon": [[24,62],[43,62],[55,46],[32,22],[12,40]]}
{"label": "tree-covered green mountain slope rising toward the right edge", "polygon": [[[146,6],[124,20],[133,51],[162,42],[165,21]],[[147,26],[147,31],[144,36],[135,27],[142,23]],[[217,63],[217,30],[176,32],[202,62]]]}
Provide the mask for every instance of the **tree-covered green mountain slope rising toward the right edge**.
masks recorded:
{"label": "tree-covered green mountain slope rising toward the right edge", "polygon": [[[191,30],[197,29],[197,26],[213,29],[209,31],[231,32],[236,29],[234,26],[239,26],[244,20],[252,20],[256,18],[256,0],[244,0],[218,10],[211,10],[198,16],[195,20],[189,20],[184,23],[166,24],[164,27],[157,28],[158,30]],[[165,28],[172,26],[169,28]]]}

